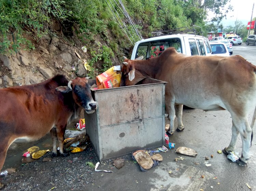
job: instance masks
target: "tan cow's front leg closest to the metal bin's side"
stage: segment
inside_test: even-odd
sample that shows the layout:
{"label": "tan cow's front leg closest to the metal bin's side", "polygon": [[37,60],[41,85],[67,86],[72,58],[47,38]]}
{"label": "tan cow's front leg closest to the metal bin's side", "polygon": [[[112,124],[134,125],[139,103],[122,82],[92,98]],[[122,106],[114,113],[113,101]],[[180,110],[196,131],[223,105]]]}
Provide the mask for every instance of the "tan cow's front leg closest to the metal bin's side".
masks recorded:
{"label": "tan cow's front leg closest to the metal bin's side", "polygon": [[168,113],[168,118],[170,120],[170,127],[166,134],[168,136],[171,136],[174,133],[174,119],[175,119],[175,107],[174,102],[170,101],[170,97],[166,95],[165,97],[165,107]]}

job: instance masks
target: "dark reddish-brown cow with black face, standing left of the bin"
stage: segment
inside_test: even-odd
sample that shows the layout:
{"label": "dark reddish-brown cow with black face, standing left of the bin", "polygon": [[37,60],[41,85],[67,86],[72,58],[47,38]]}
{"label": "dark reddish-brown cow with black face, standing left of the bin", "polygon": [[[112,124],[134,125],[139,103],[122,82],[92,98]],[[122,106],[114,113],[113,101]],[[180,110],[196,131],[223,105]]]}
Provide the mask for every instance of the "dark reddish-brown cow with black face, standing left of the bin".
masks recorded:
{"label": "dark reddish-brown cow with black face, standing left of the bin", "polygon": [[[63,137],[67,123],[79,117],[82,108],[91,114],[97,108],[86,78],[68,82],[57,75],[42,83],[0,89],[0,169],[6,152],[16,139],[37,140],[49,131],[53,154],[64,155]],[[0,188],[3,184],[0,183]]]}

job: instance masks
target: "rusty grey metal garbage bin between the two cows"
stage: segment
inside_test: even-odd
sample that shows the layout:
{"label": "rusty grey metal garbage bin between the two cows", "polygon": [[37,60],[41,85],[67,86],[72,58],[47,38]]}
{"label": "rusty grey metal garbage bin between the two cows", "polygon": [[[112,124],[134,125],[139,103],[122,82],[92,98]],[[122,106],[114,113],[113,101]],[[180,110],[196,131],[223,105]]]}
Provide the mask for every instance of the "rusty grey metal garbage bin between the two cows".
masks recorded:
{"label": "rusty grey metal garbage bin between the two cows", "polygon": [[98,108],[85,112],[85,124],[99,160],[165,144],[165,83],[147,78],[134,86],[92,91]]}

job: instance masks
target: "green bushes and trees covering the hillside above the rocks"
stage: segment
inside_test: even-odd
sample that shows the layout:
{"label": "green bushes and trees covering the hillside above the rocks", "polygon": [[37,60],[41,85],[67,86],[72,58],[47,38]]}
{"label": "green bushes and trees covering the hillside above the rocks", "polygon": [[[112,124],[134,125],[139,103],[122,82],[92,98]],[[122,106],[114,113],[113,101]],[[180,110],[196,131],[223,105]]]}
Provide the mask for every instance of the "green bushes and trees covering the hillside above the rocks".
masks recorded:
{"label": "green bushes and trees covering the hillside above the rocks", "polygon": [[[208,28],[204,20],[207,11],[223,16],[218,7],[223,7],[228,0],[211,0],[209,4],[201,0],[122,2],[140,34],[147,38],[154,30],[191,28],[193,24],[206,32]],[[120,7],[114,0],[0,0],[0,53],[34,49],[34,42],[44,34],[55,34],[49,27],[54,19],[62,31],[65,29],[76,35],[83,45],[90,47],[89,75],[95,77],[113,65],[111,59],[114,55],[121,59],[122,49],[129,49],[140,39]],[[127,34],[120,27],[125,28]],[[34,41],[27,39],[28,35]]]}

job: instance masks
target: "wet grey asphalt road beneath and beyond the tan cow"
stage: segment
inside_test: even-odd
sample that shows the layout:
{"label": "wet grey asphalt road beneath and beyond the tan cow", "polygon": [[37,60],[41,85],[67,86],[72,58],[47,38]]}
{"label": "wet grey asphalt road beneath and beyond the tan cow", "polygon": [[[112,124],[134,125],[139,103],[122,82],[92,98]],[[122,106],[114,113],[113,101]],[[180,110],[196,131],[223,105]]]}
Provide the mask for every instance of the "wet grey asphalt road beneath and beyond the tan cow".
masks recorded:
{"label": "wet grey asphalt road beneath and beyond the tan cow", "polygon": [[[234,45],[232,56],[240,54],[256,65],[253,57],[255,52],[256,46]],[[249,122],[252,120],[253,110],[254,108],[251,108]],[[166,121],[168,122],[168,119]],[[163,156],[163,161],[159,166],[142,172],[138,164],[133,163],[128,157],[123,168],[111,169],[113,173],[95,172],[93,174],[94,183],[81,187],[79,190],[246,191],[250,190],[248,186],[252,190],[256,189],[256,137],[253,140],[250,150],[251,158],[247,166],[239,166],[227,159],[225,154],[217,153],[217,150],[228,146],[231,139],[232,120],[228,111],[205,112],[199,109],[184,109],[183,124],[185,130],[175,132],[169,140],[175,143],[175,149],[160,153]],[[175,120],[176,126],[177,120]],[[194,149],[198,155],[193,157],[177,154],[175,150],[179,146]],[[241,149],[242,142],[239,136],[236,152],[239,152],[240,155]],[[211,155],[213,155],[212,158]],[[179,156],[185,159],[175,161],[175,158],[179,158]],[[205,156],[210,158],[210,167],[206,167],[204,164]],[[64,159],[60,158],[60,160]],[[102,163],[99,169],[109,170],[108,163],[109,161],[106,164]],[[7,166],[8,164],[6,164]]]}

